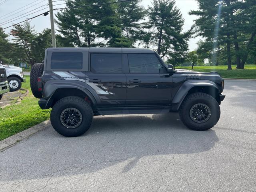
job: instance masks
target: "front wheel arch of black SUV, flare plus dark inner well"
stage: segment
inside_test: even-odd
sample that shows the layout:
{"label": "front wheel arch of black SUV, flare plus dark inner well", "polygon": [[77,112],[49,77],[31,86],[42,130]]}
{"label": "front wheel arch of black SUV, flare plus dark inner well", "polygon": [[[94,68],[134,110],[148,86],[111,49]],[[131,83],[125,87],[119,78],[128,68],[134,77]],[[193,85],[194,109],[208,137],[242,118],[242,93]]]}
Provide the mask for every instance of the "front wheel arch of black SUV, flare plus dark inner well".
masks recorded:
{"label": "front wheel arch of black SUV, flare plus dark inner well", "polygon": [[219,88],[214,82],[208,80],[191,80],[184,82],[174,95],[172,99],[172,111],[179,110],[186,96],[195,92],[209,94],[220,104]]}

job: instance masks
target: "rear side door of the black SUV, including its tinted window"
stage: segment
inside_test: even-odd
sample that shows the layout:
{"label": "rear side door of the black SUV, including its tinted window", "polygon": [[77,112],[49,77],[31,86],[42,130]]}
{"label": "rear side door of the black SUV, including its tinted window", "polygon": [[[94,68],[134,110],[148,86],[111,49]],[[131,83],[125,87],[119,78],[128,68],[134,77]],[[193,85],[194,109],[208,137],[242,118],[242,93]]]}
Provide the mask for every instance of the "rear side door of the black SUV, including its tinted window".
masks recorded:
{"label": "rear side door of the black SUV, including its tinted window", "polygon": [[90,53],[86,84],[98,94],[98,106],[125,105],[126,75],[122,73],[122,53]]}

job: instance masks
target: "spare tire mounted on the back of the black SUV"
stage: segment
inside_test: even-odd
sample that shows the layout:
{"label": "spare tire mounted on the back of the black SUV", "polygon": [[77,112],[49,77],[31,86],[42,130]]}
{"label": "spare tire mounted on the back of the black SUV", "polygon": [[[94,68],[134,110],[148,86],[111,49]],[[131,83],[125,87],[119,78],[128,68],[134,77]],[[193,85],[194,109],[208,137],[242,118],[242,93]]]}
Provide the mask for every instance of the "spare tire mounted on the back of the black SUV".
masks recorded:
{"label": "spare tire mounted on the back of the black SUV", "polygon": [[32,94],[40,99],[42,98],[42,93],[38,91],[37,86],[37,79],[41,77],[44,71],[44,64],[43,63],[35,63],[30,72],[30,88],[32,90]]}

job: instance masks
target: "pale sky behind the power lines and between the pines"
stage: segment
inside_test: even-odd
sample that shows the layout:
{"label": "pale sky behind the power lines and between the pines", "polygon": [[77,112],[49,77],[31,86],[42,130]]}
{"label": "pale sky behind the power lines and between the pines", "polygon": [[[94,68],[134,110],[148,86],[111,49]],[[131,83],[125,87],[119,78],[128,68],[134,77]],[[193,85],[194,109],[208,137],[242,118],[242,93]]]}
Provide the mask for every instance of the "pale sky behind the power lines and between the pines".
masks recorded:
{"label": "pale sky behind the power lines and between the pines", "polygon": [[[64,0],[53,0],[54,8],[65,7],[63,3],[65,3]],[[141,3],[147,8],[148,5],[151,5],[152,0],[142,0]],[[197,17],[189,15],[188,12],[198,9],[197,2],[195,0],[176,0],[176,6],[180,9],[185,20],[183,30],[189,30]],[[8,27],[13,23],[21,22],[48,10],[48,0],[0,0],[0,26],[2,28]],[[32,26],[35,26],[36,32],[41,32],[44,28],[50,28],[50,14],[47,16],[39,16],[29,21]],[[55,29],[56,27],[55,25]],[[7,28],[4,31],[10,33],[10,29],[11,28]],[[9,39],[11,38],[10,36]],[[200,37],[191,38],[189,40],[188,48],[190,51],[197,48],[196,42],[198,42],[198,40],[200,40]]]}

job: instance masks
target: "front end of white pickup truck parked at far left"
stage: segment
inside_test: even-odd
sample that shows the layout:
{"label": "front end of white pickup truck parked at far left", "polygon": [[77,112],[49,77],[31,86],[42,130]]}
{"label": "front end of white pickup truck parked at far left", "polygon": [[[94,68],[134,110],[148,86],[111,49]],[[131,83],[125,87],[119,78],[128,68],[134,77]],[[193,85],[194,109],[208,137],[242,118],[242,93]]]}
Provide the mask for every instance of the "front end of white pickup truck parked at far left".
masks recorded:
{"label": "front end of white pickup truck parked at far left", "polygon": [[22,68],[15,66],[2,65],[6,69],[6,75],[8,84],[10,86],[10,91],[16,91],[21,88],[21,83],[26,82],[24,78]]}

